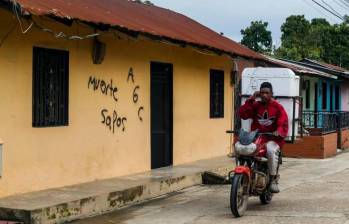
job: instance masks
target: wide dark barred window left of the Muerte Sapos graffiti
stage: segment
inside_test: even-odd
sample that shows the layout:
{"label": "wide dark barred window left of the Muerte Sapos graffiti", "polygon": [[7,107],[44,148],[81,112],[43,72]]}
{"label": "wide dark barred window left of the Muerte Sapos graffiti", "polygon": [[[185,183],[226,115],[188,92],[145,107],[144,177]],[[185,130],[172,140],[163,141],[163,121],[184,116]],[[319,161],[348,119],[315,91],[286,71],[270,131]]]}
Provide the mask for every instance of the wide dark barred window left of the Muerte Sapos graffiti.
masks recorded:
{"label": "wide dark barred window left of the Muerte Sapos graffiti", "polygon": [[33,49],[33,127],[68,125],[69,52]]}

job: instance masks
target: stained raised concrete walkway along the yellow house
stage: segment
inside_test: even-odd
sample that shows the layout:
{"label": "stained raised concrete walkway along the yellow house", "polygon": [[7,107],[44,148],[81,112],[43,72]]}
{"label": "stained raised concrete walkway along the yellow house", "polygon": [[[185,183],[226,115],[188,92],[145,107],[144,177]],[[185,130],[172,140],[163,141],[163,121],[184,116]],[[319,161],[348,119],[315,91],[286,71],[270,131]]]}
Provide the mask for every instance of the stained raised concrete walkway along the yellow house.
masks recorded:
{"label": "stained raised concrete walkway along the yellow house", "polygon": [[82,219],[201,184],[201,175],[205,171],[227,175],[234,166],[234,159],[224,156],[130,176],[1,198],[0,220],[53,224]]}

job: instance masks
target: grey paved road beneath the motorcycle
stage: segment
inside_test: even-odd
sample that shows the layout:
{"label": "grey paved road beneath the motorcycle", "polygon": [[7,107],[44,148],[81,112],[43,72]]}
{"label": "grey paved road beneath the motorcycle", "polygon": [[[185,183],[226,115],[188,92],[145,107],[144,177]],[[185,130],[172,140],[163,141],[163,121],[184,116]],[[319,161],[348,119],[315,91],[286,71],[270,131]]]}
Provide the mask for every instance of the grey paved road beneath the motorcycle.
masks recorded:
{"label": "grey paved road beneath the motorcycle", "polygon": [[247,214],[233,218],[230,186],[196,186],[75,224],[349,224],[349,153],[326,160],[286,159],[270,205],[251,198]]}

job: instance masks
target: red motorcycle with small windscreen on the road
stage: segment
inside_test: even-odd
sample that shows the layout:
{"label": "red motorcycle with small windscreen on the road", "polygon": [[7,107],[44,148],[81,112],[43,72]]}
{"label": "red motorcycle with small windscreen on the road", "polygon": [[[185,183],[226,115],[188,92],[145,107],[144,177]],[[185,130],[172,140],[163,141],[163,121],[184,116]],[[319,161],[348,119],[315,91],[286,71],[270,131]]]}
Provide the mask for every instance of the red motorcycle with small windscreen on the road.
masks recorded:
{"label": "red motorcycle with small windscreen on the road", "polygon": [[[248,198],[259,197],[262,204],[272,201],[273,193],[269,190],[270,176],[265,138],[272,133],[259,133],[258,130],[246,132],[241,130],[239,141],[235,144],[236,168],[229,173],[231,180],[230,208],[235,217],[244,215]],[[279,164],[282,162],[281,153]],[[277,168],[277,181],[279,166]]]}

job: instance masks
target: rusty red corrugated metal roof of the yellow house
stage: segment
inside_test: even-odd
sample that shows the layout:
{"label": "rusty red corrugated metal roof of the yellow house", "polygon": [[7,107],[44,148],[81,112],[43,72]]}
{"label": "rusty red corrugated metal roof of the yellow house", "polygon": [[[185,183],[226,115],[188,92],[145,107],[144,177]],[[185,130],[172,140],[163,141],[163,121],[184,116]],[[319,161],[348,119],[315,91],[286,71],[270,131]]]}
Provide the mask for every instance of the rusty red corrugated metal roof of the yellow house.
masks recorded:
{"label": "rusty red corrugated metal roof of the yellow house", "polygon": [[168,9],[129,0],[1,0],[18,3],[24,12],[54,15],[166,37],[253,59],[263,56],[202,24]]}

